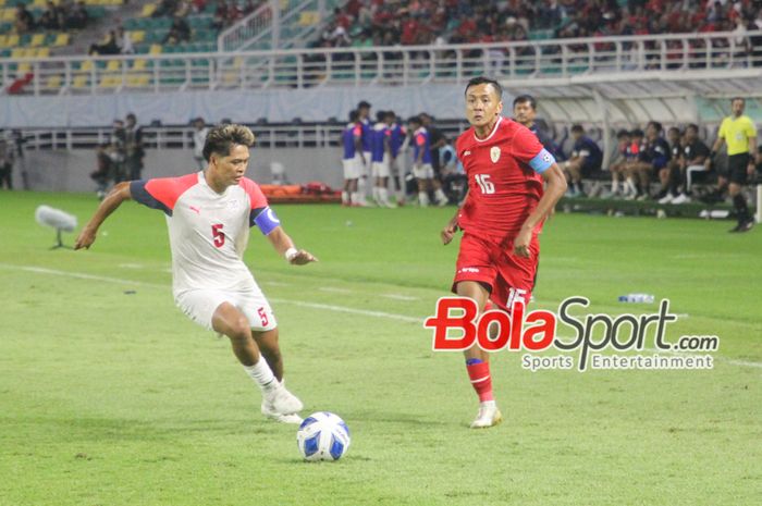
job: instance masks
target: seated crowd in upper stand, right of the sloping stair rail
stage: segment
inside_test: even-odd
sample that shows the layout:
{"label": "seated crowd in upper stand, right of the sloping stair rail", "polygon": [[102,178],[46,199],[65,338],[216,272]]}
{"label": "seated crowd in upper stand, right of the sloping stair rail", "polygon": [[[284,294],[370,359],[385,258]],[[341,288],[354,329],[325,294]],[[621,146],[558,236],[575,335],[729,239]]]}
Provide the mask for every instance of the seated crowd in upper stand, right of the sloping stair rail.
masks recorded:
{"label": "seated crowd in upper stand, right of the sloping stair rail", "polygon": [[762,29],[759,0],[351,0],[318,46],[414,46]]}

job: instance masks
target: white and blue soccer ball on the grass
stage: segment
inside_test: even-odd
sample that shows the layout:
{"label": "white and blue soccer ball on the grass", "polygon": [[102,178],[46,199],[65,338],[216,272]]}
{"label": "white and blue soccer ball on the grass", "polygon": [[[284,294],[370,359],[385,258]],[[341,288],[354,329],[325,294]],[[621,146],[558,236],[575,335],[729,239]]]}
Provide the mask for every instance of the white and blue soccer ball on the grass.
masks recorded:
{"label": "white and blue soccer ball on the grass", "polygon": [[349,428],[339,416],[314,412],[296,431],[296,444],[307,460],[339,460],[349,448]]}

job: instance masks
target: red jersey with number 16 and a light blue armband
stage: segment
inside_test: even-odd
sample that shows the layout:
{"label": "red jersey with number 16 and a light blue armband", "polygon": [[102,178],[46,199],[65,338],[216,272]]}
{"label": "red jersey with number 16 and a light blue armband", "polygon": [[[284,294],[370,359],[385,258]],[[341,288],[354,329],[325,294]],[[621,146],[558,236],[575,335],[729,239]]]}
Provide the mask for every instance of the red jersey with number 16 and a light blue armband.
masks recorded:
{"label": "red jersey with number 16 and a light blue armband", "polygon": [[[484,139],[468,128],[458,137],[456,149],[468,176],[468,198],[458,225],[501,242],[513,238],[542,198],[540,174],[555,159],[527,127],[502,116]],[[541,227],[542,223],[537,232]]]}

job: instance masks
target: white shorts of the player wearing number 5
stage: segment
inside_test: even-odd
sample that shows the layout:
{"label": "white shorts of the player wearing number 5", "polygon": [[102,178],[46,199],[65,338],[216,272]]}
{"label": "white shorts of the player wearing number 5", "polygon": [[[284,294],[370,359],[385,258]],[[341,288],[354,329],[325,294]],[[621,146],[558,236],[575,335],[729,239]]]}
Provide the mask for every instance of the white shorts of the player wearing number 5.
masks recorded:
{"label": "white shorts of the player wearing number 5", "polygon": [[270,303],[259,287],[247,291],[189,289],[174,298],[177,307],[199,325],[213,330],[211,319],[222,303],[230,303],[248,320],[254,331],[271,331],[278,326]]}

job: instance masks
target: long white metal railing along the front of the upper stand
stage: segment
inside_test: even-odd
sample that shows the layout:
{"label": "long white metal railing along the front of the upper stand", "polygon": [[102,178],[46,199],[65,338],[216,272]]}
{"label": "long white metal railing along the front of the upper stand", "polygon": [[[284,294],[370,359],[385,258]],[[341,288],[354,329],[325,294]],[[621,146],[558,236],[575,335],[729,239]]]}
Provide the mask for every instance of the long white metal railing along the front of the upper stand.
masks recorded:
{"label": "long white metal railing along the front of the upper stand", "polygon": [[[728,70],[762,73],[762,30],[532,40],[508,44],[290,49],[124,57],[11,58],[0,61],[0,85],[25,74],[32,95],[263,89],[316,86],[464,84],[489,74],[515,83],[585,83],[601,76],[644,81],[732,78]],[[20,70],[23,69],[25,73]],[[696,72],[690,72],[696,71]],[[540,81],[542,79],[542,81]]]}

